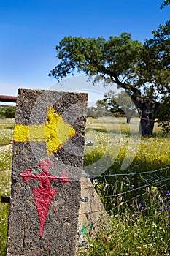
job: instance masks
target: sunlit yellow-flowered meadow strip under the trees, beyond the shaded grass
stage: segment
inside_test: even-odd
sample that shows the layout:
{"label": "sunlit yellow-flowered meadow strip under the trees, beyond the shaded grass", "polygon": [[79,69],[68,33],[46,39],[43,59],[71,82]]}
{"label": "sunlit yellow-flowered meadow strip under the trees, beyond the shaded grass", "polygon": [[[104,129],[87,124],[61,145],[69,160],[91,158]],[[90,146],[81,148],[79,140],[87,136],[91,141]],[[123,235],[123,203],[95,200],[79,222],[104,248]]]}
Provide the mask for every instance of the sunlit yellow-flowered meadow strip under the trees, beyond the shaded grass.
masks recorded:
{"label": "sunlit yellow-flowered meadow strip under the trees, beyond the shaded grass", "polygon": [[[164,134],[161,127],[155,124],[153,138],[140,138],[136,118],[132,118],[131,127],[126,124],[125,118],[117,119],[110,122],[109,118],[88,119],[86,140],[93,140],[94,145],[85,147],[84,165],[90,174],[96,173],[95,167],[104,173],[106,166],[109,166],[109,173],[121,173],[123,159],[133,160],[125,168],[128,173],[170,166],[170,136]],[[100,166],[96,162],[99,159]]]}

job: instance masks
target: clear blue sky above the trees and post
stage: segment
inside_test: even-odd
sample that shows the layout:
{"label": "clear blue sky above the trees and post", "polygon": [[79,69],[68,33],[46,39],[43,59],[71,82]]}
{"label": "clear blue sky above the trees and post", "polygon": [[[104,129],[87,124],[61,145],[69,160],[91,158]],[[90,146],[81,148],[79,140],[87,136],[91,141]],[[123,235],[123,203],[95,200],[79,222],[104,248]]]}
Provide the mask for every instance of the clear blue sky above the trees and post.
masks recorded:
{"label": "clear blue sky above the trees and post", "polygon": [[[49,89],[55,80],[47,74],[58,64],[55,45],[65,36],[107,39],[126,31],[144,42],[169,19],[170,7],[159,8],[162,1],[0,0],[0,94]],[[82,91],[90,89],[84,78],[78,82]],[[74,85],[70,79],[62,90],[74,91]]]}

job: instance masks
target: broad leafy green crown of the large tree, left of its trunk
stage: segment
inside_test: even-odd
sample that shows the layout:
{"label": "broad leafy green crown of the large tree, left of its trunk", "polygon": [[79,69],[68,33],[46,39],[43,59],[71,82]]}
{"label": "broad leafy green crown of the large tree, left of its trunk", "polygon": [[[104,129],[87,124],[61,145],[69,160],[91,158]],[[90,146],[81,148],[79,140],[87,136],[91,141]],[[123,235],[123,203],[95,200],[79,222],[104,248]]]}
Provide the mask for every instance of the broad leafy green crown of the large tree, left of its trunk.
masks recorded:
{"label": "broad leafy green crown of the large tree, left of its trunk", "polygon": [[136,72],[142,43],[132,40],[128,33],[109,37],[109,40],[103,37],[64,37],[56,50],[61,62],[50,75],[57,80],[74,75],[74,70],[118,80],[119,76],[130,79]]}

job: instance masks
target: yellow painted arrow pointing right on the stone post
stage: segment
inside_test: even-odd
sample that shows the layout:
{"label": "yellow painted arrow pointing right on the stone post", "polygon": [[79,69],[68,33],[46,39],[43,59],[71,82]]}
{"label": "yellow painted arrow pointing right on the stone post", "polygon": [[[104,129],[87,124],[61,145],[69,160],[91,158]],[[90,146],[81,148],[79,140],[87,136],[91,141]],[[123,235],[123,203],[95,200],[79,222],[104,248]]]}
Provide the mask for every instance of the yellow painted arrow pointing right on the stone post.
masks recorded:
{"label": "yellow painted arrow pointing right on the stone post", "polygon": [[46,142],[47,155],[54,154],[76,134],[54,108],[48,107],[45,124],[15,124],[14,140],[18,142]]}

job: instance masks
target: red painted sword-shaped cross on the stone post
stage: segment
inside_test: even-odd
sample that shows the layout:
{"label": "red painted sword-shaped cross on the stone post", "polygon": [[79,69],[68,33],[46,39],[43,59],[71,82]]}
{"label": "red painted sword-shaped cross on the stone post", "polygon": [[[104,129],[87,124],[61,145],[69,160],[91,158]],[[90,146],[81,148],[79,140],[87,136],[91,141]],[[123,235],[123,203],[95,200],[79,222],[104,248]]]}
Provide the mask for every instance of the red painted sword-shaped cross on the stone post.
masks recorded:
{"label": "red painted sword-shaped cross on the stone post", "polygon": [[48,168],[53,168],[53,162],[49,159],[42,160],[37,167],[42,167],[42,173],[39,175],[31,173],[31,168],[28,168],[20,176],[23,181],[28,184],[29,180],[39,181],[39,187],[32,188],[34,192],[34,199],[36,203],[36,210],[39,214],[39,236],[43,236],[45,219],[50,207],[51,200],[58,193],[57,189],[52,189],[50,181],[60,181],[61,184],[65,184],[70,181],[69,176],[62,171],[62,176],[50,176]]}

